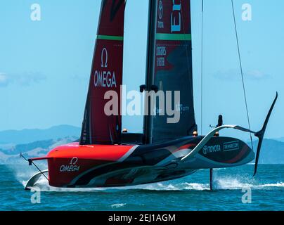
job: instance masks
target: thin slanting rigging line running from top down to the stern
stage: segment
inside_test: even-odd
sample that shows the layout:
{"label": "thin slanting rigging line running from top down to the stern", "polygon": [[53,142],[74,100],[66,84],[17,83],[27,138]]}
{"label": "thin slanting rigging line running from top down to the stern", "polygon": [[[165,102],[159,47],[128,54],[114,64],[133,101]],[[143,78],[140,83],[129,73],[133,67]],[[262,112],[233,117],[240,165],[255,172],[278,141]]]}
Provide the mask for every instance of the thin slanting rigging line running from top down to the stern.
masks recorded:
{"label": "thin slanting rigging line running from top down to the stern", "polygon": [[[243,64],[242,64],[242,60],[241,60],[241,57],[240,57],[240,44],[239,44],[239,41],[238,41],[238,29],[237,29],[237,24],[235,22],[235,8],[233,6],[233,0],[231,0],[231,3],[232,3],[232,9],[233,9],[233,21],[234,21],[234,24],[235,24],[235,37],[237,39],[237,46],[238,46],[238,58],[239,58],[239,62],[240,62],[240,74],[242,75],[242,82],[243,82],[243,94],[244,94],[244,97],[245,97],[245,108],[247,110],[247,123],[248,123],[249,129],[250,129],[250,113],[249,113],[248,106],[247,106],[247,94],[246,94],[246,91],[245,91],[245,80],[244,80],[244,76],[243,76]],[[251,133],[250,133],[250,142],[252,144],[252,134]],[[253,150],[253,144],[252,144],[252,150]]]}

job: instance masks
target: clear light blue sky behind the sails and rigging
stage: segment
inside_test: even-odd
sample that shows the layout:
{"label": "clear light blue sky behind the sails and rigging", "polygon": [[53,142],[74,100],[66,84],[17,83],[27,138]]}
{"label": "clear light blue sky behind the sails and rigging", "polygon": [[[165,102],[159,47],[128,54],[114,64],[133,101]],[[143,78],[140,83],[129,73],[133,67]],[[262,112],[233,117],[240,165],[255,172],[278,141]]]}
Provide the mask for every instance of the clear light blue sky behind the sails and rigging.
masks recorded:
{"label": "clear light blue sky behind the sails and rigging", "polygon": [[[209,124],[247,127],[231,0],[205,0],[202,133]],[[32,21],[32,4],[41,20]],[[284,136],[284,1],[234,0],[250,112],[259,130],[276,91],[278,103],[266,137]],[[242,20],[242,6],[252,20]],[[0,131],[81,127],[96,39],[99,0],[0,1]],[[191,0],[195,117],[201,127],[201,0]],[[124,32],[124,84],[145,83],[148,1],[128,0]],[[141,131],[141,117],[125,117]],[[231,134],[228,132],[228,134]],[[243,134],[240,134],[243,135]],[[248,136],[242,136],[248,139]]]}

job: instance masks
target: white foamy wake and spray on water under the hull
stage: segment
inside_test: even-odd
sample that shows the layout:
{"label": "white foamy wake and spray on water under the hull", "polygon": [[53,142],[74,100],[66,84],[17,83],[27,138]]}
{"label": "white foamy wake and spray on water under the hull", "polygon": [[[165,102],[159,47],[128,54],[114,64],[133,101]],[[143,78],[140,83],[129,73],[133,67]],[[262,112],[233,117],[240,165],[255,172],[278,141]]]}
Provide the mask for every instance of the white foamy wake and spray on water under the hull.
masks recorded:
{"label": "white foamy wake and spray on water under the hull", "polygon": [[[40,165],[45,167],[46,165]],[[23,169],[25,168],[25,169]],[[37,171],[33,169],[27,169],[26,165],[18,165],[18,167],[11,167],[14,172],[15,179],[22,184],[23,188],[27,184],[27,180]],[[203,176],[200,174],[200,176]],[[208,180],[207,176],[205,181]],[[121,188],[55,188],[49,186],[48,181],[43,177],[36,186],[41,191],[51,192],[102,192],[102,191],[209,191],[209,183],[191,182],[193,177],[187,176],[183,179],[174,181],[165,181],[155,184],[144,184],[138,186],[129,186]],[[249,175],[214,175],[214,191],[224,190],[242,190],[244,188],[251,188],[255,190],[284,190],[284,181],[260,181],[258,179],[252,179]]]}

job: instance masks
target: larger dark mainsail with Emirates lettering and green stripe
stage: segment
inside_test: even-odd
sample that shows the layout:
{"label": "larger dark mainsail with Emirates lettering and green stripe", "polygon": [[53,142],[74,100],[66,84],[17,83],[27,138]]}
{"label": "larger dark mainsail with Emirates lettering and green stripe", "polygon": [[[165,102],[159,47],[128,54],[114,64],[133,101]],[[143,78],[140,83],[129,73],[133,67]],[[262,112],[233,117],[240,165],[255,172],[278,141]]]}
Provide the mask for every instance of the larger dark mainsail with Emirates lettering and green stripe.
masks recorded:
{"label": "larger dark mainsail with Emirates lettering and green stripe", "polygon": [[[153,142],[188,136],[197,129],[193,108],[193,72],[190,0],[156,0],[156,32],[153,82],[160,91],[172,91],[172,109],[179,122],[169,123],[169,115],[153,117]],[[180,101],[174,102],[174,91]]]}

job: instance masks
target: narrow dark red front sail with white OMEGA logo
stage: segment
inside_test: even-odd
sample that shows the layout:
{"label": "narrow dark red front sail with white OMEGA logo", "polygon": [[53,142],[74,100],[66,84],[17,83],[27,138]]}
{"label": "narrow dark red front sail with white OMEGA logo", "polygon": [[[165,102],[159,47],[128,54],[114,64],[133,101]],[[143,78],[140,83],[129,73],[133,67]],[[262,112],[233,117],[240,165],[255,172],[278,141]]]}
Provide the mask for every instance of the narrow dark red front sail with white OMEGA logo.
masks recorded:
{"label": "narrow dark red front sail with white OMEGA logo", "polygon": [[[124,8],[124,0],[102,1],[82,124],[82,145],[120,143]],[[112,99],[105,99],[108,91],[115,91],[118,97],[118,102],[110,108],[112,115],[105,113],[105,105]]]}

